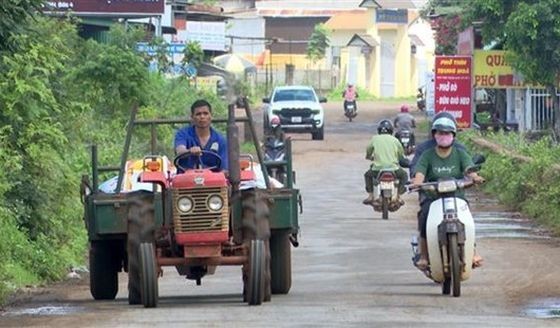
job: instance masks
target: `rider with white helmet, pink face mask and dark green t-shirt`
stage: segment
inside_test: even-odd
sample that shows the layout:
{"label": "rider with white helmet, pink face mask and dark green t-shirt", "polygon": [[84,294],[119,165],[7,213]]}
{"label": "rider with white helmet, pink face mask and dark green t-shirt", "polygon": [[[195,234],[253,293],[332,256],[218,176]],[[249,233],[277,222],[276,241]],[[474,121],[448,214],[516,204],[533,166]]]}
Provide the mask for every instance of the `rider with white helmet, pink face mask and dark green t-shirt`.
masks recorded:
{"label": "rider with white helmet, pink face mask and dark green t-shirt", "polygon": [[[439,117],[432,124],[432,137],[436,146],[426,149],[420,156],[416,164],[412,188],[420,185],[424,181],[432,182],[440,178],[461,179],[465,172],[474,166],[471,156],[459,147],[454,146],[453,141],[457,134],[457,125],[449,117]],[[482,183],[484,179],[476,172],[467,173],[467,176],[475,183]],[[456,196],[465,198],[464,191],[457,191]],[[420,203],[420,213],[418,216],[418,227],[420,230],[420,259],[416,266],[420,270],[428,267],[428,247],[426,242],[426,220],[430,210],[430,204],[436,200],[437,195],[426,193],[425,198]],[[473,266],[480,266],[482,258],[476,253],[473,258]]]}

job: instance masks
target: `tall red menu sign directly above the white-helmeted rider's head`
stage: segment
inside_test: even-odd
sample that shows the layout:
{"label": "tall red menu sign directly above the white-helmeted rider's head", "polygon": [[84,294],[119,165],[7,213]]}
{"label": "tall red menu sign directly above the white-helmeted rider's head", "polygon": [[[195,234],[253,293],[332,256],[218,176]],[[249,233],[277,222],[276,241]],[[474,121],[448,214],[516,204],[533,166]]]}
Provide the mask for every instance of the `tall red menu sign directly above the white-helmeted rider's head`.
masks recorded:
{"label": "tall red menu sign directly above the white-helmeted rider's head", "polygon": [[436,56],[435,113],[449,112],[459,128],[472,123],[471,57]]}

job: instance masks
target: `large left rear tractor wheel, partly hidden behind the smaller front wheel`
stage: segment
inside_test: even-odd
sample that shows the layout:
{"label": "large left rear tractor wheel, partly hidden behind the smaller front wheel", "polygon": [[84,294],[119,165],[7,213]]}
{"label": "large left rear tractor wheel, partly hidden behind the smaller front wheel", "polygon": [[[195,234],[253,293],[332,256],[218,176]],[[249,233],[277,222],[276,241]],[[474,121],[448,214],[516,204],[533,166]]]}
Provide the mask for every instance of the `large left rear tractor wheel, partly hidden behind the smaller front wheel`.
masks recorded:
{"label": "large left rear tractor wheel, partly hidden behind the smaller front wheel", "polygon": [[128,304],[141,304],[140,244],[154,242],[154,196],[148,192],[129,195],[128,208]]}

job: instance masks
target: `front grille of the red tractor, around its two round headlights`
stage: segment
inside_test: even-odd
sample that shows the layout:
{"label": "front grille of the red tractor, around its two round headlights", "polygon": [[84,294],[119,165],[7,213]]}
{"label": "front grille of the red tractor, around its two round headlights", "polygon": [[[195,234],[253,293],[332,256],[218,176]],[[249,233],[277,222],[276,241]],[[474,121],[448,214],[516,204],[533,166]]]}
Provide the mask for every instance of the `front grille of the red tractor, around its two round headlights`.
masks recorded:
{"label": "front grille of the red tractor, around its two round headlights", "polygon": [[[220,212],[213,212],[208,208],[206,200],[210,195],[219,194],[224,200],[224,207]],[[179,212],[177,201],[182,196],[189,196],[194,202],[194,208],[187,214]],[[176,233],[197,231],[227,231],[228,197],[227,188],[194,188],[173,191],[173,225]]]}

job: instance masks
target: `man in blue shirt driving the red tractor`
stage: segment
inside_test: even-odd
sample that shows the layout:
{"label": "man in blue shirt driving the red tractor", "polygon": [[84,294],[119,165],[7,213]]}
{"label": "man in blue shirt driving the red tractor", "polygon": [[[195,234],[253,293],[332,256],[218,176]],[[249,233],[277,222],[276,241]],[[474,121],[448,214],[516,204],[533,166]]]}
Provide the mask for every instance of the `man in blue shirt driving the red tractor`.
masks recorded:
{"label": "man in blue shirt driving the red tractor", "polygon": [[[203,167],[216,167],[217,170],[228,170],[228,154],[226,139],[212,128],[212,106],[206,100],[199,99],[191,105],[190,126],[181,128],[175,134],[175,153],[181,155],[190,152],[193,156],[184,157],[179,164],[184,169],[196,168],[199,163]],[[203,153],[212,152],[217,156]],[[197,157],[199,156],[199,157]],[[182,173],[177,168],[178,173]]]}

